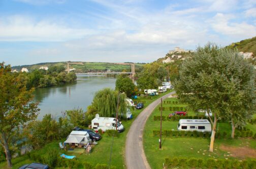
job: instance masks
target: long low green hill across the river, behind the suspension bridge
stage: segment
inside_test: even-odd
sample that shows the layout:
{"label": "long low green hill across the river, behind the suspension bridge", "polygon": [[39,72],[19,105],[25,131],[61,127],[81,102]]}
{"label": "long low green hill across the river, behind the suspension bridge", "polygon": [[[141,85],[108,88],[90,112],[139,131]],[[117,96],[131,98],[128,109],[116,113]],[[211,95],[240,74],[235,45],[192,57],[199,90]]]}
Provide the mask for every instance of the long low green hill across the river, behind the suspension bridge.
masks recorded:
{"label": "long low green hill across the river, behind the suspension bridge", "polygon": [[[142,69],[143,63],[136,63],[135,69],[136,72],[139,72]],[[12,69],[20,71],[23,67],[27,68],[28,71],[33,71],[39,69],[41,66],[64,66],[67,68],[67,62],[46,62],[38,63],[33,65],[21,65],[13,66]],[[77,73],[86,73],[86,72],[101,72],[101,71],[113,71],[119,72],[123,70],[131,71],[131,66],[126,64],[116,64],[116,63],[104,63],[104,62],[83,62],[83,64],[70,64],[70,69],[75,68]]]}

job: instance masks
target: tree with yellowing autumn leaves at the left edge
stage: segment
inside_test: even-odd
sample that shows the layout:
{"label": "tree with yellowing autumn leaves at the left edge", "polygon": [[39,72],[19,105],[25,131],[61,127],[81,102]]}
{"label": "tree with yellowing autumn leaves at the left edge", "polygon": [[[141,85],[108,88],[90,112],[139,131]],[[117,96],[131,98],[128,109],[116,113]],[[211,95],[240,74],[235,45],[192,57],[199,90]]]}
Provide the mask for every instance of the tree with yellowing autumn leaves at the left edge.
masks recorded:
{"label": "tree with yellowing autumn leaves at the left edge", "polygon": [[37,117],[38,103],[32,101],[31,90],[10,65],[0,63],[0,145],[5,149],[8,166],[12,166],[9,143],[14,129]]}

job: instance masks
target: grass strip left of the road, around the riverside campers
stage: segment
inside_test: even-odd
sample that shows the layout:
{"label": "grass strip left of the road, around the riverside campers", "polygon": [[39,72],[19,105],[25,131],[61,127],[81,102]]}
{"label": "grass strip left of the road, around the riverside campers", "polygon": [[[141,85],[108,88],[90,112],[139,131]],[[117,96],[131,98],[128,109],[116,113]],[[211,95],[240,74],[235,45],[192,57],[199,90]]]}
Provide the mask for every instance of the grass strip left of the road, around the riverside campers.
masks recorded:
{"label": "grass strip left of the road, around the riverside campers", "polygon": [[[167,93],[169,93],[169,92],[171,92],[171,91],[168,91]],[[165,93],[165,94],[167,94],[167,93]],[[144,101],[144,106],[146,107],[150,103],[152,103],[154,100],[156,100],[159,97],[162,97],[165,94],[161,94],[159,96],[148,97],[148,98],[140,98],[139,97],[138,99],[135,99],[134,101],[137,101],[137,102]],[[119,134],[119,137],[114,138],[111,165],[115,165],[117,168],[125,168],[124,154],[125,154],[126,134],[128,133],[130,126],[132,125],[132,122],[134,121],[134,119],[138,116],[138,114],[142,110],[132,110],[133,119],[122,120],[122,124],[125,128],[125,131],[123,133]],[[63,141],[65,141],[65,139],[63,139],[61,141],[63,142]],[[103,134],[102,139],[98,142],[98,144],[95,147],[93,147],[92,152],[89,155],[85,154],[85,153],[79,155],[78,153],[70,153],[65,150],[59,150],[58,141],[47,144],[42,149],[37,150],[37,152],[44,155],[50,149],[57,149],[59,151],[59,154],[65,153],[67,155],[76,155],[77,156],[76,158],[80,162],[86,161],[86,162],[90,162],[93,165],[96,165],[97,163],[108,164],[109,157],[110,157],[110,151],[111,151],[111,145],[112,145],[112,137],[108,137],[106,134]],[[28,159],[27,155],[23,155],[21,157],[12,159],[12,162],[13,162],[13,168],[18,168],[23,164],[36,162],[36,161],[31,161]],[[0,163],[0,168],[6,168],[6,167],[7,167],[6,162]],[[61,167],[61,168],[63,168],[63,167]],[[83,168],[83,167],[80,166],[80,168]]]}

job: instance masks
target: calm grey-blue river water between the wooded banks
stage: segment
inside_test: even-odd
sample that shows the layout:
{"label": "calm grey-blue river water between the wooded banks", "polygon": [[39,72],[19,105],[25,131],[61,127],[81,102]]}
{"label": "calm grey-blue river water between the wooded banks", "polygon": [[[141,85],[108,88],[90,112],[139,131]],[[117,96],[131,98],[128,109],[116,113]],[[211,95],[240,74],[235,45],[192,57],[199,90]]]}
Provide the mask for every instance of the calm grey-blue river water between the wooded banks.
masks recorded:
{"label": "calm grey-blue river water between the wooded banks", "polygon": [[82,108],[86,111],[95,92],[103,88],[115,88],[116,78],[101,75],[77,75],[77,82],[51,88],[39,88],[35,91],[34,100],[39,102],[38,119],[45,114],[58,118],[65,110]]}

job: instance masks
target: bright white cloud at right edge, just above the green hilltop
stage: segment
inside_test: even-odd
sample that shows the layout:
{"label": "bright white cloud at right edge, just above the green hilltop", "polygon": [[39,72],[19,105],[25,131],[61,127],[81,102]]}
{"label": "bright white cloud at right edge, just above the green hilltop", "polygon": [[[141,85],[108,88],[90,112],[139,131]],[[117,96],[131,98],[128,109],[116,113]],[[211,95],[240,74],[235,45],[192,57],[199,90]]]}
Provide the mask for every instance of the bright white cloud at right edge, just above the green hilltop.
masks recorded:
{"label": "bright white cloud at right edge, just above the green hilltop", "polygon": [[253,37],[256,35],[256,27],[245,22],[230,22],[231,15],[217,13],[210,21],[212,28],[223,35],[237,36],[242,38]]}

